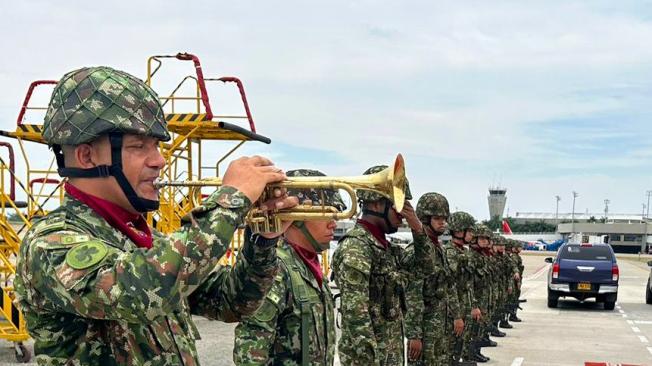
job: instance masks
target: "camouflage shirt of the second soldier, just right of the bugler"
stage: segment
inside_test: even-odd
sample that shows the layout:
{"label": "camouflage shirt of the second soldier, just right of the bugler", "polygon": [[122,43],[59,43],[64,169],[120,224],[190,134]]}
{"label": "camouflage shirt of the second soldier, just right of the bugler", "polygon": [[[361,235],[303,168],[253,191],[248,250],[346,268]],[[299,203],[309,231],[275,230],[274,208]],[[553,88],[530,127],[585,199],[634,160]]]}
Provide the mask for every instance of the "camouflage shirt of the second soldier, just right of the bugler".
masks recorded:
{"label": "camouflage shirt of the second soldier, just right of the bugler", "polygon": [[277,252],[280,271],[265,302],[235,328],[233,361],[330,366],[335,357],[335,318],[328,279],[324,277],[320,286],[285,240]]}

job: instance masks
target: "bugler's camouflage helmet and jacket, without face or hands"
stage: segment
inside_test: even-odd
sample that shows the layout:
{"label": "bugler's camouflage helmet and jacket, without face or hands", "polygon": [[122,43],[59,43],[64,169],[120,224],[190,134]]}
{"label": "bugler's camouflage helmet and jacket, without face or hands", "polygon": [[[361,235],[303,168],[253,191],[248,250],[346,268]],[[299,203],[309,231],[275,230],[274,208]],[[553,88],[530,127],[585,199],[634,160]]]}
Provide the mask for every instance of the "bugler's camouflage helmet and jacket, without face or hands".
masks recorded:
{"label": "bugler's camouflage helmet and jacket, without face or hands", "polygon": [[[130,106],[136,111],[125,112]],[[82,69],[55,88],[44,134],[51,143],[81,143],[122,121],[113,129],[165,139],[162,116],[153,91],[132,76]],[[273,283],[274,242],[253,245],[250,235],[232,270],[215,268],[250,207],[243,193],[222,187],[171,236],[154,231],[152,248],[144,249],[66,195],[27,232],[17,262],[17,303],[37,363],[197,365],[190,314],[237,321],[260,306]]]}

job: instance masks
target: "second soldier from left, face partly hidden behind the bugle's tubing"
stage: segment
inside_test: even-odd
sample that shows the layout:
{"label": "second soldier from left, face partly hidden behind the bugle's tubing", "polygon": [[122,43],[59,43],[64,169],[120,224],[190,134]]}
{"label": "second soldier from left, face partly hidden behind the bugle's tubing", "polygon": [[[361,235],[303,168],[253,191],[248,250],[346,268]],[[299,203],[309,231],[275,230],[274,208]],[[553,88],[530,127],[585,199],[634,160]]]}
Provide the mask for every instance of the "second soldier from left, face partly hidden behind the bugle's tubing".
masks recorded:
{"label": "second soldier from left, face partly hidden behind the bugle's tubing", "polygon": [[[324,174],[300,169],[288,171],[287,176]],[[294,189],[288,193],[299,197],[301,204],[346,209],[337,191]],[[335,226],[332,219],[295,221],[285,232],[276,249],[280,271],[267,299],[253,316],[235,328],[236,365],[333,364],[333,296],[318,255],[328,249]]]}

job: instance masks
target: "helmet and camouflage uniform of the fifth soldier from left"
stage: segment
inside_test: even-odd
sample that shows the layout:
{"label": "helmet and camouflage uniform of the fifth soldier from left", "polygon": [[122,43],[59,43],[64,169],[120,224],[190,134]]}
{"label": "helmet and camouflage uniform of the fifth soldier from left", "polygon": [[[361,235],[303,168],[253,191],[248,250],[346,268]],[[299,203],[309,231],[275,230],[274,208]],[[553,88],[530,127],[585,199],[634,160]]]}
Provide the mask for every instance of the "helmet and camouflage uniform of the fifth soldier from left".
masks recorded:
{"label": "helmet and camouflage uniform of the fifth soldier from left", "polygon": [[[473,216],[466,212],[455,212],[451,215],[450,231],[451,234],[456,231],[466,231],[471,229],[475,224]],[[465,352],[469,344],[465,342],[470,332],[471,326],[475,320],[471,318],[471,310],[478,307],[478,301],[473,292],[473,276],[475,269],[471,262],[471,253],[466,247],[460,247],[452,241],[446,245],[446,258],[455,279],[455,289],[457,291],[458,301],[460,303],[461,314],[464,319],[464,334],[457,337],[453,334],[453,324],[451,322],[449,334],[452,334],[451,348],[453,360],[458,361]]]}

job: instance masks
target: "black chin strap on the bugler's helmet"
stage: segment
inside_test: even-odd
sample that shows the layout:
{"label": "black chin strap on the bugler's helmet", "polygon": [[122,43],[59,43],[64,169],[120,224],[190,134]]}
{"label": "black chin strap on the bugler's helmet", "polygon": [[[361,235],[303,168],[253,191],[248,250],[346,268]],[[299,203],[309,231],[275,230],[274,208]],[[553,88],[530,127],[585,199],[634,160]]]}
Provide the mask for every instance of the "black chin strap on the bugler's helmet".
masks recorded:
{"label": "black chin strap on the bugler's helmet", "polygon": [[111,165],[104,164],[87,169],[66,168],[61,146],[52,146],[57,159],[57,165],[59,166],[57,171],[60,176],[71,178],[105,178],[112,176],[118,182],[120,189],[122,189],[122,192],[134,210],[140,213],[155,211],[159,207],[159,201],[138,196],[122,171],[122,137],[123,135],[121,133],[109,134],[109,141],[111,142]]}

